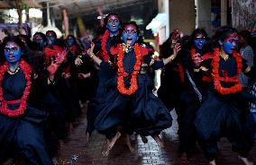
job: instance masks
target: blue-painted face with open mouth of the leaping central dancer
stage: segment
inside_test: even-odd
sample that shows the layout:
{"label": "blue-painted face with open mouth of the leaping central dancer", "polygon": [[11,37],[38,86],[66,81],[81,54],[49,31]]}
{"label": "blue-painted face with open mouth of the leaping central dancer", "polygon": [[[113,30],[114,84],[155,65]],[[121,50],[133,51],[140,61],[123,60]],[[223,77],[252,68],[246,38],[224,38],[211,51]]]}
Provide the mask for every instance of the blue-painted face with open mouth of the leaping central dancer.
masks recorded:
{"label": "blue-painted face with open mouth of the leaping central dancer", "polygon": [[133,47],[137,38],[138,38],[138,32],[136,30],[136,27],[133,24],[126,25],[122,33],[123,42]]}

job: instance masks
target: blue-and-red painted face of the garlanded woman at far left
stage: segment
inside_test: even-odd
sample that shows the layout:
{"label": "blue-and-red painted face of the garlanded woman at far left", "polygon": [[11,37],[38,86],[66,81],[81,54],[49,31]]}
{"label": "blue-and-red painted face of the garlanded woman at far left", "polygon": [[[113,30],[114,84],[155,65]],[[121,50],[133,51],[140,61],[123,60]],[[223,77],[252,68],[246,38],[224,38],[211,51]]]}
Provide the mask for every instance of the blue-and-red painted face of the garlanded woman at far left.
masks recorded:
{"label": "blue-and-red painted face of the garlanded woman at far left", "polygon": [[22,56],[21,48],[15,42],[7,42],[5,45],[5,59],[8,63],[17,63]]}

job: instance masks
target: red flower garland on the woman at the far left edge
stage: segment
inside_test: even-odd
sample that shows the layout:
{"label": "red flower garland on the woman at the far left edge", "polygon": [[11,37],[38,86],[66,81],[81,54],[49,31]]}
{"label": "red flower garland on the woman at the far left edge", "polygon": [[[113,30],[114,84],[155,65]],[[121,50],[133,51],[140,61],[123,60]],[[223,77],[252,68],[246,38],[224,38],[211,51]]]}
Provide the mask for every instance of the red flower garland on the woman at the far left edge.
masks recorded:
{"label": "red flower garland on the woman at the far left edge", "polygon": [[[23,59],[20,61],[19,64],[20,68],[23,70],[25,79],[26,79],[26,87],[23,91],[23,97],[21,100],[5,100],[3,98],[3,79],[4,79],[4,74],[8,70],[9,65],[7,62],[5,62],[5,65],[2,65],[0,67],[0,112],[8,117],[19,117],[23,115],[26,107],[27,107],[27,98],[30,94],[31,90],[31,74],[32,74],[32,67],[28,65]],[[14,104],[14,103],[20,103],[20,106],[18,109],[8,109],[8,104]]]}

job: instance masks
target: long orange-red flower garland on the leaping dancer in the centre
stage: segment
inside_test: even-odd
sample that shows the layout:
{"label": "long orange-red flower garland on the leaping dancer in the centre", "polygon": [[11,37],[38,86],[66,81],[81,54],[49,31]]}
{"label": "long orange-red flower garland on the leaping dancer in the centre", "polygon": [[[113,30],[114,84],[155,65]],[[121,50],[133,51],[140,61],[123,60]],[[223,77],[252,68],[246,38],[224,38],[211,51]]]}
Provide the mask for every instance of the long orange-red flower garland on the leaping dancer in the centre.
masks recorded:
{"label": "long orange-red flower garland on the leaping dancer in the centre", "polygon": [[128,76],[128,74],[123,69],[123,56],[124,56],[123,45],[119,44],[118,48],[119,48],[119,53],[118,53],[118,56],[117,56],[117,66],[118,66],[118,70],[117,70],[117,89],[122,94],[131,95],[135,91],[138,90],[137,75],[139,74],[139,70],[141,69],[141,65],[142,65],[142,56],[141,56],[141,52],[140,52],[140,47],[137,43],[133,47],[134,52],[135,52],[136,62],[135,62],[135,65],[133,66],[131,85],[130,85],[129,89],[125,88],[124,83],[123,83],[123,77]]}

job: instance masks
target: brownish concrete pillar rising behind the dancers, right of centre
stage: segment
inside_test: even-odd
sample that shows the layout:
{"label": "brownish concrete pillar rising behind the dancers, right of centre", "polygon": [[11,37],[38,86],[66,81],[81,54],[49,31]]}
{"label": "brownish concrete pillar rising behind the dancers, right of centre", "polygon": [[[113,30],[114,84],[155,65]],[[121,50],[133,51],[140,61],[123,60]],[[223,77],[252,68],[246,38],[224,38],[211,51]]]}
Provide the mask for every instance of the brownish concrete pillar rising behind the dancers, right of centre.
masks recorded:
{"label": "brownish concrete pillar rising behind the dancers, right of centre", "polygon": [[195,0],[169,0],[169,31],[191,34],[196,28]]}

